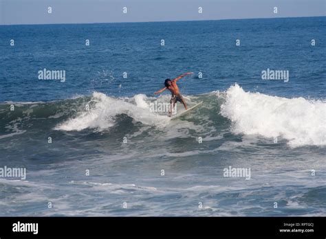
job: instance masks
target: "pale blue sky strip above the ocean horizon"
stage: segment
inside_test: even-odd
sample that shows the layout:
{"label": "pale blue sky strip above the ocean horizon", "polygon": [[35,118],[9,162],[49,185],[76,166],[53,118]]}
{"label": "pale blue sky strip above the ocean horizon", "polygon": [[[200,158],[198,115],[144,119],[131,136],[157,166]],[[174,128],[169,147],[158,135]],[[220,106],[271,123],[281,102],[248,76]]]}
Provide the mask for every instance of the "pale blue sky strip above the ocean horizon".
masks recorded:
{"label": "pale blue sky strip above the ocean horizon", "polygon": [[[47,13],[48,7],[52,7],[52,14]],[[122,12],[124,7],[127,14]],[[274,7],[278,14],[273,13]],[[0,25],[256,19],[325,13],[326,0],[0,0]]]}

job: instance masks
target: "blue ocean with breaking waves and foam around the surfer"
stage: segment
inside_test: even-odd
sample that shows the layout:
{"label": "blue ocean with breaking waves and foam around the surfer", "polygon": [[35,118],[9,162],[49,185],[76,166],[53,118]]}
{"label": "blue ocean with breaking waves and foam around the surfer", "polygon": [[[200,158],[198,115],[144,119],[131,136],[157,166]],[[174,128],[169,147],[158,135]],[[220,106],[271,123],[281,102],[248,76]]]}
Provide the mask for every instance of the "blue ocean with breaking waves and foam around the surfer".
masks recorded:
{"label": "blue ocean with breaking waves and foam around the surfer", "polygon": [[[326,216],[325,32],[325,17],[0,25],[0,168],[27,170],[0,175],[0,216]],[[180,91],[204,103],[151,111],[187,71]]]}

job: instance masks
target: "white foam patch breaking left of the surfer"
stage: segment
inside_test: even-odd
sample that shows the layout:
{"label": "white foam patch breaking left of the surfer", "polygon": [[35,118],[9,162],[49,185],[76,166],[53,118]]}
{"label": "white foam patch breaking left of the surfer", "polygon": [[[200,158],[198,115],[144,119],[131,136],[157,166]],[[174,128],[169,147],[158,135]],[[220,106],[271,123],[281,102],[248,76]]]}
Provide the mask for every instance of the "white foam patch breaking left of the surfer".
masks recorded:
{"label": "white foam patch breaking left of the surfer", "polygon": [[170,121],[165,115],[157,115],[149,111],[149,103],[147,103],[149,99],[146,95],[135,95],[132,99],[116,99],[104,93],[94,92],[91,101],[95,104],[89,111],[78,113],[76,117],[58,124],[54,129],[67,131],[85,128],[108,129],[115,124],[114,117],[122,113],[146,125],[165,126]]}

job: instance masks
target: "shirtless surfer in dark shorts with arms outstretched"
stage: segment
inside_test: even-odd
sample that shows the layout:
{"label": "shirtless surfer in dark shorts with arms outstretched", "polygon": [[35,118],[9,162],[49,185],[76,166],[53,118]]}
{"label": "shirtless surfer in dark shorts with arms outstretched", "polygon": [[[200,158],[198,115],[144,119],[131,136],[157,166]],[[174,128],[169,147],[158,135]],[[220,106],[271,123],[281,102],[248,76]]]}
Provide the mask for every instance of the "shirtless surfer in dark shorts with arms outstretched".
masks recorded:
{"label": "shirtless surfer in dark shorts with arms outstretched", "polygon": [[171,91],[171,100],[170,100],[171,108],[170,108],[170,111],[169,111],[169,116],[172,115],[172,109],[174,108],[175,103],[177,103],[178,101],[182,102],[182,104],[184,105],[184,109],[186,109],[186,110],[188,109],[186,101],[184,100],[184,98],[180,94],[179,87],[177,87],[177,81],[180,80],[181,78],[183,78],[184,76],[188,76],[188,75],[191,75],[191,74],[193,74],[193,72],[184,73],[181,76],[178,76],[177,78],[174,78],[173,80],[166,79],[164,81],[165,87],[160,89],[160,91],[155,91],[154,92],[154,95],[157,95],[159,93],[162,93],[166,89]]}

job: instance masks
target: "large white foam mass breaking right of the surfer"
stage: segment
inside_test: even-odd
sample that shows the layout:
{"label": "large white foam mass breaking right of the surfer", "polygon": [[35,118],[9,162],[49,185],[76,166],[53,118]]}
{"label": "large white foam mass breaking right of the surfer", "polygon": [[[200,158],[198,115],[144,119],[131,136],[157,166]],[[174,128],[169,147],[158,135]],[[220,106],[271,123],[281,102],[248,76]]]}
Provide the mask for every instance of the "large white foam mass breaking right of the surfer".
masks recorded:
{"label": "large white foam mass breaking right of the surfer", "polygon": [[221,115],[235,133],[281,136],[292,147],[326,145],[326,103],[304,98],[280,98],[245,92],[238,84],[226,92]]}

